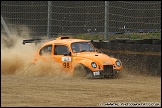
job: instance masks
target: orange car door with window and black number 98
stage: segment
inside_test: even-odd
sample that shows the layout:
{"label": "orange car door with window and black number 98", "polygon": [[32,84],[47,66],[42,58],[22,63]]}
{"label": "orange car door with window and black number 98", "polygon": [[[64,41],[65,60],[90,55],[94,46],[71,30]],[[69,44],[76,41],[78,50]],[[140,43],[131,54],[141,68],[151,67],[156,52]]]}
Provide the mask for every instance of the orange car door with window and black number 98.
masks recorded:
{"label": "orange car door with window and black number 98", "polygon": [[58,63],[60,63],[63,69],[67,71],[71,71],[72,69],[72,59],[71,52],[67,45],[64,44],[56,44],[54,45],[54,54],[52,57]]}

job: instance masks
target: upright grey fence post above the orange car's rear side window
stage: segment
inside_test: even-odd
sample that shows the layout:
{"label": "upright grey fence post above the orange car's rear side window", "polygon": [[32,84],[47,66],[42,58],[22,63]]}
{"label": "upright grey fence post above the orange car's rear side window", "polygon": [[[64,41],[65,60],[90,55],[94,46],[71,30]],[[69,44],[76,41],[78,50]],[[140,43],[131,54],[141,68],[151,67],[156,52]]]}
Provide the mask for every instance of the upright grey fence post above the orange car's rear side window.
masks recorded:
{"label": "upright grey fence post above the orange car's rear side window", "polygon": [[51,12],[52,12],[52,1],[48,1],[48,23],[47,23],[47,37],[51,36]]}

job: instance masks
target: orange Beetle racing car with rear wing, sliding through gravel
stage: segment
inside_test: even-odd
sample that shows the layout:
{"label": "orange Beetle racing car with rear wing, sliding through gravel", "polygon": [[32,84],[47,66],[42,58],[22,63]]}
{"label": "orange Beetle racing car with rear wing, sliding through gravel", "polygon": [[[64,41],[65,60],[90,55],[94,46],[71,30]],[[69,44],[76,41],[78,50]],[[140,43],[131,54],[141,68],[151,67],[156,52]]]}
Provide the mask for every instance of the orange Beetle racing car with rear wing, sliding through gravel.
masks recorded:
{"label": "orange Beetle racing car with rear wing, sliding through gravel", "polygon": [[[31,42],[36,40],[23,40],[23,44]],[[58,37],[44,43],[36,52],[33,63],[48,59],[60,63],[70,75],[78,77],[109,78],[122,70],[120,60],[98,52],[89,40],[69,37]]]}

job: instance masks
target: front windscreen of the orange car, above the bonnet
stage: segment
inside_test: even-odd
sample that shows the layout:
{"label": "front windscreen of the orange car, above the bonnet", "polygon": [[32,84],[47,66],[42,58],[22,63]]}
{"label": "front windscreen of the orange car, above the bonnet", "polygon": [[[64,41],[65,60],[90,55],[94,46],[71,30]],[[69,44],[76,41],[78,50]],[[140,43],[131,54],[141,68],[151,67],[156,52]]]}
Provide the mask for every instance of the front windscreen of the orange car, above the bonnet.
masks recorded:
{"label": "front windscreen of the orange car, above the bonnet", "polygon": [[71,48],[74,53],[95,51],[95,49],[89,42],[75,42],[71,44]]}

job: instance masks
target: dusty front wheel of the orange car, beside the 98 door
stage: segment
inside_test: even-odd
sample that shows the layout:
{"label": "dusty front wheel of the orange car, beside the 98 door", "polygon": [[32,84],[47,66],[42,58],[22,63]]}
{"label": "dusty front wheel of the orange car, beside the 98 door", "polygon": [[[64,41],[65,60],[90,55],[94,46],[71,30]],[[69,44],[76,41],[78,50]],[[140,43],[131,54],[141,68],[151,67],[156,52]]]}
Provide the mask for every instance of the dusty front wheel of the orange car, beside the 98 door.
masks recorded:
{"label": "dusty front wheel of the orange car, beside the 98 door", "polygon": [[73,76],[74,77],[80,77],[80,78],[92,79],[93,73],[88,67],[86,67],[82,64],[78,64],[74,68]]}

